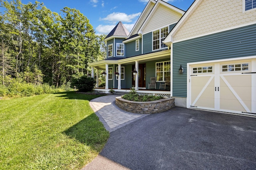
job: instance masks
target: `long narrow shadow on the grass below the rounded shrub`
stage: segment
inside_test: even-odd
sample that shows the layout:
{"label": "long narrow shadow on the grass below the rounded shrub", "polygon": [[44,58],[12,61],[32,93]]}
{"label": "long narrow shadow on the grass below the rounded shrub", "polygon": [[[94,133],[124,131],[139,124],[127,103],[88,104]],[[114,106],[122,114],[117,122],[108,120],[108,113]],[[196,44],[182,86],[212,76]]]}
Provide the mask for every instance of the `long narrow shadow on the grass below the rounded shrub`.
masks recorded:
{"label": "long narrow shadow on the grass below the rounded shrub", "polygon": [[60,96],[56,97],[61,97],[64,99],[78,99],[78,100],[92,100],[94,98],[98,98],[103,95],[98,95],[98,94],[81,94],[81,93],[76,93],[76,91],[69,91],[69,92],[58,92],[54,94],[62,94]]}

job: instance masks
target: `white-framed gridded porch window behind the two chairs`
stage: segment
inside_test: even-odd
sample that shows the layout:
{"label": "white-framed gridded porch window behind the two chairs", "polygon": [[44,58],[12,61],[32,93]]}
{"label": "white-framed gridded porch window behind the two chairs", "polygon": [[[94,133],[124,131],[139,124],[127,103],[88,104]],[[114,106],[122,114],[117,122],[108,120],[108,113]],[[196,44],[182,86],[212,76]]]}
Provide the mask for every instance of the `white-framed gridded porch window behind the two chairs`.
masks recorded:
{"label": "white-framed gridded porch window behind the two chairs", "polygon": [[156,63],[156,81],[165,81],[168,76],[171,76],[171,62]]}

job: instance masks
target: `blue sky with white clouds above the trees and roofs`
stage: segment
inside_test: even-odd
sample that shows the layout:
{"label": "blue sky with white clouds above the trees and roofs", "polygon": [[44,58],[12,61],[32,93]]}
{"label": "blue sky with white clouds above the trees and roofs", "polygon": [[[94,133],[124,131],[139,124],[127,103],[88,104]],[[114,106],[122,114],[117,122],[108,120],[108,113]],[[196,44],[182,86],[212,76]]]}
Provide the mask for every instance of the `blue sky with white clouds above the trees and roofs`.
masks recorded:
{"label": "blue sky with white clouds above the trees and roofs", "polygon": [[[8,0],[10,1],[10,0]],[[60,12],[65,6],[76,8],[90,20],[96,34],[108,34],[119,21],[130,31],[148,0],[37,0],[52,12]],[[164,0],[186,11],[194,0]],[[35,0],[22,0],[23,4]]]}

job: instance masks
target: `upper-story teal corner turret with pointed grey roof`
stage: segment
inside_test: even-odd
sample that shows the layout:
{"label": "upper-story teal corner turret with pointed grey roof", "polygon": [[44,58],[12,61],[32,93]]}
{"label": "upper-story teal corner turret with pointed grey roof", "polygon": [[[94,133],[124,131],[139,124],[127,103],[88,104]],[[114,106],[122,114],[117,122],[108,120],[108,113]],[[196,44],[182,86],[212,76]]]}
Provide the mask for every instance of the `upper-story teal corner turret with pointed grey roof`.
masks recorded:
{"label": "upper-story teal corner turret with pointed grey roof", "polygon": [[125,44],[122,41],[129,36],[129,31],[121,21],[110,31],[105,38],[107,58],[125,57]]}

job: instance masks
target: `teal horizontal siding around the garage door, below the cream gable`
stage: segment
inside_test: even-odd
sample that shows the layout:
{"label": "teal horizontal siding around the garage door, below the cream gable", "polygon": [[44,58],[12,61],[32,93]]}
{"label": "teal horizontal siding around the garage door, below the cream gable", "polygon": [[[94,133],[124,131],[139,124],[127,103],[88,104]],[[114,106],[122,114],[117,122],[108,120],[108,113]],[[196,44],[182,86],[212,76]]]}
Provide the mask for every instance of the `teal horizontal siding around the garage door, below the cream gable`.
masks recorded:
{"label": "teal horizontal siding around the garage door, below the cream gable", "polygon": [[[256,24],[173,44],[173,96],[186,97],[187,63],[256,55]],[[180,64],[184,73],[180,74]]]}

